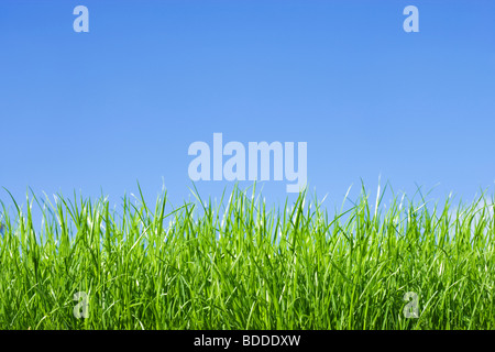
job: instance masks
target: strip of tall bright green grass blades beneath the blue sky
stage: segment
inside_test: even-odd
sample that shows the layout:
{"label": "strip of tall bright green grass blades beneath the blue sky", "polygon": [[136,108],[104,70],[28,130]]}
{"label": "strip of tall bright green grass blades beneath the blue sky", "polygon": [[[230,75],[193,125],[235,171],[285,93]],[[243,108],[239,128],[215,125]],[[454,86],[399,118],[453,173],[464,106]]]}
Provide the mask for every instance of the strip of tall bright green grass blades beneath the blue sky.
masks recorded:
{"label": "strip of tall bright green grass blades beneath the blue sky", "polygon": [[[331,215],[305,194],[268,209],[237,188],[219,206],[141,195],[117,211],[31,196],[3,206],[0,328],[494,329],[493,200],[378,195]],[[73,315],[78,292],[87,319]],[[404,317],[408,292],[417,319]]]}

